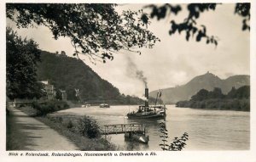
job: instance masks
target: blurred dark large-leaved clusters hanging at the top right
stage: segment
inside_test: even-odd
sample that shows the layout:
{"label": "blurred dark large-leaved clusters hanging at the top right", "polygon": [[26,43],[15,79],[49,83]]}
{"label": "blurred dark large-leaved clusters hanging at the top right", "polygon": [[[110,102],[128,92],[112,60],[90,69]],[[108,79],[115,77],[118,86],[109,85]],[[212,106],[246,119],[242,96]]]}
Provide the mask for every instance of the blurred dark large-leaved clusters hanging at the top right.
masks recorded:
{"label": "blurred dark large-leaved clusters hanging at the top right", "polygon": [[[189,39],[193,36],[195,36],[196,42],[201,42],[202,39],[206,40],[206,43],[213,43],[216,46],[218,45],[218,38],[217,36],[209,36],[207,34],[207,26],[206,25],[197,25],[196,20],[200,18],[200,15],[206,11],[214,11],[215,8],[220,4],[217,3],[189,3],[187,5],[188,9],[188,15],[183,19],[183,22],[177,23],[175,20],[171,20],[171,29],[169,31],[169,35],[172,36],[176,32],[181,34],[182,32],[185,32],[186,40],[189,41]],[[150,8],[150,18],[154,19],[154,17],[157,18],[157,20],[162,20],[171,14],[179,14],[182,11],[181,5],[172,5],[172,4],[163,4],[163,5],[155,5],[150,4],[148,6],[145,6],[145,8]],[[242,20],[242,31],[250,31],[250,3],[236,3],[235,6],[235,14],[240,15]],[[144,17],[148,18],[148,14],[143,14]]]}

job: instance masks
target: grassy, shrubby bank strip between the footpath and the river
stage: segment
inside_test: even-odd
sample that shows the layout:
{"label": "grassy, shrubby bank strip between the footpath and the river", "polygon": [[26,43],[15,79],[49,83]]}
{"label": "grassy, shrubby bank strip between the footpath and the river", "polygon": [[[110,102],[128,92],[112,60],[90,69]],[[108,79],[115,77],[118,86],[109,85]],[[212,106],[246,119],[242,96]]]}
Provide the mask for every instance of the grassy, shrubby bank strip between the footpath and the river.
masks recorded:
{"label": "grassy, shrubby bank strip between the footpath and the river", "polygon": [[[80,150],[83,151],[105,151],[105,150],[116,150],[116,146],[108,142],[108,140],[102,138],[98,132],[93,132],[91,134],[96,134],[96,137],[90,137],[85,129],[86,123],[94,123],[93,126],[97,126],[96,122],[91,120],[89,117],[84,117],[83,119],[78,118],[68,118],[68,117],[53,117],[49,115],[35,116],[37,115],[37,110],[31,107],[22,107],[21,111],[27,115],[34,116],[37,120],[40,120],[45,125],[58,131],[62,136],[67,137],[72,141]],[[86,119],[86,120],[85,120]],[[83,123],[84,121],[84,123]],[[82,129],[84,128],[84,129]],[[91,129],[95,130],[95,129]],[[90,131],[90,130],[89,130]]]}

